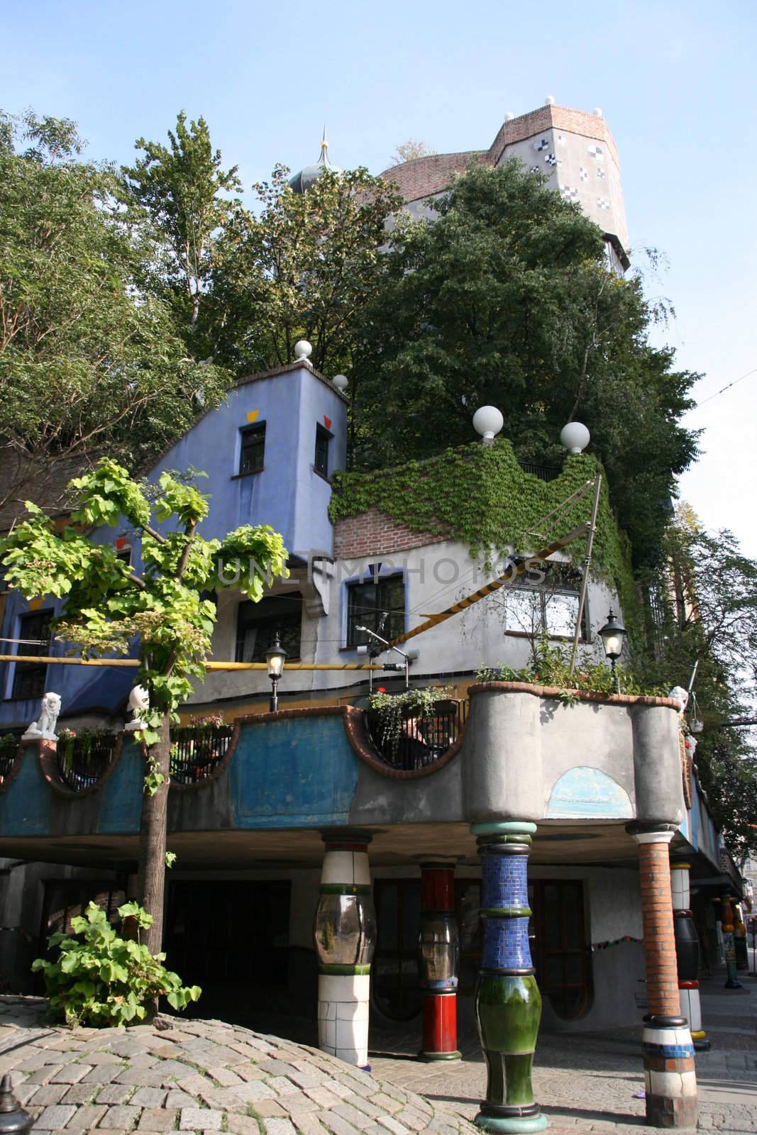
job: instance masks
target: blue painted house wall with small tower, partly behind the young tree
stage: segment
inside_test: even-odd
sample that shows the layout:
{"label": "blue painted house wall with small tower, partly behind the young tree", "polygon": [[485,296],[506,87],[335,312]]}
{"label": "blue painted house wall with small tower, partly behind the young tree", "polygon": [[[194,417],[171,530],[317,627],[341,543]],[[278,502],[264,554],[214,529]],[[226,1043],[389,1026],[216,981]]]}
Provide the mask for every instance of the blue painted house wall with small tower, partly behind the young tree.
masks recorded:
{"label": "blue painted house wall with small tower, partly behind the young tree", "polygon": [[[266,422],[264,468],[259,473],[237,477],[242,434],[251,424],[247,414],[258,411],[253,424]],[[218,538],[242,524],[270,524],[284,537],[292,555],[306,558],[312,550],[330,554],[334,545],[328,506],[330,485],[313,469],[316,427],[334,435],[329,446],[329,476],[344,469],[347,453],[347,407],[344,398],[306,365],[296,364],[268,378],[255,378],[234,387],[227,401],[197,421],[192,430],[161,457],[150,473],[157,480],[166,470],[191,465],[208,473],[199,482],[210,495],[210,514],[201,533]],[[159,528],[167,526],[159,524]],[[103,528],[93,535],[102,544],[125,535]],[[138,540],[128,537],[133,563],[141,568]],[[62,604],[43,603],[58,614]],[[0,634],[18,638],[20,616],[30,609],[17,594],[7,597]],[[0,653],[14,653],[12,649]],[[62,655],[61,645],[53,654]],[[27,725],[40,713],[40,699],[10,699],[15,663],[0,664],[0,731]],[[74,666],[49,666],[45,688],[60,693],[62,713],[103,708],[115,711],[133,684],[128,671],[102,672]]]}

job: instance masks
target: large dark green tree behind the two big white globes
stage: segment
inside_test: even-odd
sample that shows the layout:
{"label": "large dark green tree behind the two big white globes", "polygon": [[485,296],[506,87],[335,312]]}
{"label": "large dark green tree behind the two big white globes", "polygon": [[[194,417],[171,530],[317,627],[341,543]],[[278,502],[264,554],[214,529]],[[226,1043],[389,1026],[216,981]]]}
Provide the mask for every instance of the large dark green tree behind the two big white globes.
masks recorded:
{"label": "large dark green tree behind the two big white globes", "polygon": [[696,452],[679,418],[697,376],[648,339],[656,309],[606,266],[603,234],[516,160],[477,167],[399,234],[362,325],[355,460],[364,468],[471,439],[499,406],[519,457],[560,460],[592,434],[637,564],[659,562],[675,476]]}

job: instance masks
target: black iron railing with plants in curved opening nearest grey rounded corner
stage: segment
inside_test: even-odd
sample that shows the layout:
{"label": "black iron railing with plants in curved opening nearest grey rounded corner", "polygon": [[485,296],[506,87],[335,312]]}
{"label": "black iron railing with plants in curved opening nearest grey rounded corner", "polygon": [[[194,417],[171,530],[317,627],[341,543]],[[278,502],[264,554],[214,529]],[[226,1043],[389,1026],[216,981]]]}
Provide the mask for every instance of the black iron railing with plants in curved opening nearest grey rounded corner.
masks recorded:
{"label": "black iron railing with plants in curved opening nearest grey rounded corner", "polygon": [[368,734],[381,760],[392,768],[412,772],[436,764],[465,728],[466,701],[438,701],[429,714],[403,715],[399,735],[386,735],[376,711],[365,714]]}

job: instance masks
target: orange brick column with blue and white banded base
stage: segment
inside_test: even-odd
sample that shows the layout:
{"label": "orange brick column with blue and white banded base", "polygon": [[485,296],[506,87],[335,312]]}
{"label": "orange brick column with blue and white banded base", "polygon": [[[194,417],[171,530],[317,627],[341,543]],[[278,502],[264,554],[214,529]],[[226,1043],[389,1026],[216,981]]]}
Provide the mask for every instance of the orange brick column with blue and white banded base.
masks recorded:
{"label": "orange brick column with blue and white banded base", "polygon": [[[670,830],[665,830],[670,827]],[[693,1043],[679,999],[668,844],[674,825],[650,831],[632,825],[639,844],[644,956],[649,1007],[642,1034],[647,1123],[696,1127]]]}

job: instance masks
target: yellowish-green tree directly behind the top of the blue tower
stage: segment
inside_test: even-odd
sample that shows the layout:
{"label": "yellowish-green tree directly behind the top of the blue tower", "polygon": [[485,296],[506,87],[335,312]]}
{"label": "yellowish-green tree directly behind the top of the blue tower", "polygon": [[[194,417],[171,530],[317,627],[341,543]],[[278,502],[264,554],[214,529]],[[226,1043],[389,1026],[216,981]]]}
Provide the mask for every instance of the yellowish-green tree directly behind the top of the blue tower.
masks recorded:
{"label": "yellowish-green tree directly behind the top of the blue tower", "polygon": [[287,174],[277,166],[270,183],[255,185],[260,212],[238,208],[220,238],[217,358],[250,373],[292,362],[305,338],[314,367],[354,377],[365,308],[388,270],[385,226],[402,197],[365,169],[326,170],[305,193],[289,187]]}

